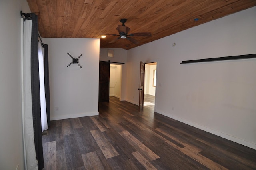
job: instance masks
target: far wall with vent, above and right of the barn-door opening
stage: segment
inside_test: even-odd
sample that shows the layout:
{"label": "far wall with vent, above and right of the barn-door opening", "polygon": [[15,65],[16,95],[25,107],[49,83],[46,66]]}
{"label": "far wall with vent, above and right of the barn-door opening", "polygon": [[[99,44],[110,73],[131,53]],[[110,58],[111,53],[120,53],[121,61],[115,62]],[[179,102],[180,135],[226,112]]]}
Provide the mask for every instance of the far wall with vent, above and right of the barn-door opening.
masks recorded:
{"label": "far wall with vent, above and right of the barn-door opening", "polygon": [[[127,68],[127,50],[124,50],[122,48],[109,48],[110,50],[114,50],[114,57],[110,58],[108,57],[108,48],[101,48],[100,49],[100,61],[108,61],[110,62],[120,62],[124,64],[118,64],[121,65],[121,92],[120,92],[120,98],[119,100],[126,100],[126,68]],[[116,64],[117,65],[117,64]]]}

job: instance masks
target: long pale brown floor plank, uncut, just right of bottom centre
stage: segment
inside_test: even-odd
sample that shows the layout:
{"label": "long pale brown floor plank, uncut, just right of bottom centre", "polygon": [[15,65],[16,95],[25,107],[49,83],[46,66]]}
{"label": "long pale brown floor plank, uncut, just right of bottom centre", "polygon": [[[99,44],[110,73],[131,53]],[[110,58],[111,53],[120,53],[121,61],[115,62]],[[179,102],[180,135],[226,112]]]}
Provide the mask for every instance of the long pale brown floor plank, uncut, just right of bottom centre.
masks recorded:
{"label": "long pale brown floor plank, uncut, just right of bottom centre", "polygon": [[136,150],[138,150],[143,156],[145,156],[149,161],[158,159],[159,156],[152,152],[148,147],[146,147],[142,142],[136,139],[128,131],[123,131],[119,133],[123,138],[125,138]]}

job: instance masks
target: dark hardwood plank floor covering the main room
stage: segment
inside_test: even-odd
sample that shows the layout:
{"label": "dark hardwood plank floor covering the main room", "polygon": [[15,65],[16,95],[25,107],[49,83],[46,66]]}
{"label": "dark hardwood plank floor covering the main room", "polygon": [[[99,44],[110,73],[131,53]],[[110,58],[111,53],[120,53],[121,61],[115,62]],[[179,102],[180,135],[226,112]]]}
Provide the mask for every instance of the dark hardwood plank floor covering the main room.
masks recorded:
{"label": "dark hardwood plank floor covering the main room", "polygon": [[256,150],[115,97],[44,134],[43,170],[256,170]]}

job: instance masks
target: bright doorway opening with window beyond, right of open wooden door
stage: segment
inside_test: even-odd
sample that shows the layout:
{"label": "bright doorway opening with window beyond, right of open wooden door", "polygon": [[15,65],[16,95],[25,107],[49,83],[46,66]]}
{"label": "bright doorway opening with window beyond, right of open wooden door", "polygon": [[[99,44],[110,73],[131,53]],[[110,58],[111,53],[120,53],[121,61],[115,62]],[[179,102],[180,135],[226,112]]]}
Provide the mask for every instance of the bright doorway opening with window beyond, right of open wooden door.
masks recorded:
{"label": "bright doorway opening with window beyond, right of open wooden door", "polygon": [[157,62],[145,63],[144,102],[143,105],[154,110],[156,96],[156,66]]}

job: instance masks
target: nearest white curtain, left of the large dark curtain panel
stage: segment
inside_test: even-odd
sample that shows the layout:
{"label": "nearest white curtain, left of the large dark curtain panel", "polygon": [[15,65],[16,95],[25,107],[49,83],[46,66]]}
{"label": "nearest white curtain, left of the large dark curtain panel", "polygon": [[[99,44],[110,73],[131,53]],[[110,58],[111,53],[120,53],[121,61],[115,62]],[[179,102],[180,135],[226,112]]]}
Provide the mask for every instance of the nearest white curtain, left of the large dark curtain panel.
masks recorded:
{"label": "nearest white curtain, left of the large dark curtain panel", "polygon": [[34,128],[31,98],[31,29],[32,21],[23,22],[22,55],[22,118],[26,170],[38,170],[34,143]]}

